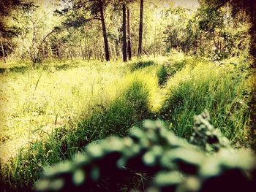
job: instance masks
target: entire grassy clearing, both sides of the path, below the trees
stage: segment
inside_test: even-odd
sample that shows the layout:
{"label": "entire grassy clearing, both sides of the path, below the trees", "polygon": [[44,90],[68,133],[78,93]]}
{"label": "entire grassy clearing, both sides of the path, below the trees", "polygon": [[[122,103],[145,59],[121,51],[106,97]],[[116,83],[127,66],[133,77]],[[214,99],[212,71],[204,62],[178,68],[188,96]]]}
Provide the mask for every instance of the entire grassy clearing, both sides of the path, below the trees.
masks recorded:
{"label": "entire grassy clearing, both sides of the path, below the trees", "polygon": [[1,70],[1,183],[31,188],[44,166],[98,139],[125,136],[146,118],[165,120],[189,139],[192,118],[204,109],[234,146],[245,146],[248,64],[184,55],[128,64],[48,62],[37,69],[13,64]]}

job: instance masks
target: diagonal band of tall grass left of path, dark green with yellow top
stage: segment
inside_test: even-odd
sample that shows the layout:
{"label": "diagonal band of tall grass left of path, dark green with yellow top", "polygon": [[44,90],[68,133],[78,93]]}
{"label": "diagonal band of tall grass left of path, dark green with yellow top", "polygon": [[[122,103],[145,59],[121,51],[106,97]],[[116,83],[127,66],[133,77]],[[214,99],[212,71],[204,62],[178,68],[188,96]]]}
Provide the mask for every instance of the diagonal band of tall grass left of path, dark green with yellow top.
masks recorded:
{"label": "diagonal band of tall grass left of path, dark green with yellow top", "polygon": [[125,74],[121,81],[105,86],[104,92],[91,93],[94,100],[91,99],[91,104],[83,108],[76,120],[70,118],[65,126],[53,129],[48,138],[23,147],[9,167],[4,167],[2,176],[10,175],[13,186],[29,190],[43,166],[72,158],[84,145],[97,139],[111,134],[126,135],[130,126],[150,115],[158,69],[158,66],[148,66]]}

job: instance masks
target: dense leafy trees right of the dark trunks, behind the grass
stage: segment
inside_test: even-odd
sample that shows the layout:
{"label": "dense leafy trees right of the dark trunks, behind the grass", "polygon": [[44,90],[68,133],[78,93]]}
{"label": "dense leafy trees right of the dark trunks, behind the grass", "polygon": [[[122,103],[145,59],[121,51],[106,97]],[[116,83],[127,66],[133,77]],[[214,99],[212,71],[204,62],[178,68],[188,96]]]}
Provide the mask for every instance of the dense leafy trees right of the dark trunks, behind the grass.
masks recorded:
{"label": "dense leafy trees right of the dark trunks, behind the grass", "polygon": [[200,1],[196,11],[182,7],[165,9],[162,18],[167,20],[164,31],[167,53],[175,49],[205,55],[214,61],[248,55],[249,18],[241,10],[235,17],[232,12],[236,6],[231,4]]}

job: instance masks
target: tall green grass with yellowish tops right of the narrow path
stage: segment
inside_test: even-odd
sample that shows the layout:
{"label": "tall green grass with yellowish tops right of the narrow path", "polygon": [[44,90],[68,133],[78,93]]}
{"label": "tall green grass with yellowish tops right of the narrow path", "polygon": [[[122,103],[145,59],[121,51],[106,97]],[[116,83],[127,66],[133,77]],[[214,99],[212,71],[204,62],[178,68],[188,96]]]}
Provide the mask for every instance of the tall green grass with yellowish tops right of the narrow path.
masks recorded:
{"label": "tall green grass with yellowish tops right of the narrow path", "polygon": [[249,126],[246,72],[231,64],[196,63],[188,64],[167,82],[160,117],[170,121],[178,136],[189,138],[193,116],[207,109],[211,123],[226,137],[232,142],[244,141]]}

